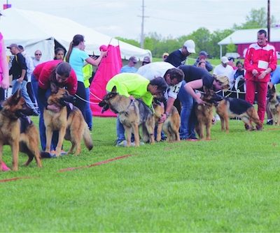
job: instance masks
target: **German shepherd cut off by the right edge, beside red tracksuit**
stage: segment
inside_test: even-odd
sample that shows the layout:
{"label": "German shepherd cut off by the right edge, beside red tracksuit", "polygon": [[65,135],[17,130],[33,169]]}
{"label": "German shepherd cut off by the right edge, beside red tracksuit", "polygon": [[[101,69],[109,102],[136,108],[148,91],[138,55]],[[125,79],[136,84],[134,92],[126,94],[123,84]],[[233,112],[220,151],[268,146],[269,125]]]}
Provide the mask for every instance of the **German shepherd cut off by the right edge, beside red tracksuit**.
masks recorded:
{"label": "German shepherd cut off by the right edge, beside red tracksuit", "polygon": [[268,98],[268,108],[272,114],[272,122],[274,125],[280,125],[280,96],[277,96],[276,89],[274,86],[270,88],[268,86],[267,91],[267,98]]}

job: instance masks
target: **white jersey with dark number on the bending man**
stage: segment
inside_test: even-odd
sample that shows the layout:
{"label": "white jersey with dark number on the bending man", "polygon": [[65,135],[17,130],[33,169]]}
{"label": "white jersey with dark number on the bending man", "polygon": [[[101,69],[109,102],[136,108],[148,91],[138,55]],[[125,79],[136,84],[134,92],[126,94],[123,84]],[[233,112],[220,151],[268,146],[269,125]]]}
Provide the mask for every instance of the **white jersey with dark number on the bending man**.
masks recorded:
{"label": "white jersey with dark number on the bending man", "polygon": [[[175,68],[172,64],[165,61],[157,61],[153,63],[148,63],[144,66],[141,66],[137,73],[146,77],[148,80],[153,80],[155,77],[164,77],[167,70]],[[175,86],[169,86],[167,92],[165,92],[165,98],[168,99],[172,97],[177,98],[178,92],[180,90],[182,82],[176,84]]]}

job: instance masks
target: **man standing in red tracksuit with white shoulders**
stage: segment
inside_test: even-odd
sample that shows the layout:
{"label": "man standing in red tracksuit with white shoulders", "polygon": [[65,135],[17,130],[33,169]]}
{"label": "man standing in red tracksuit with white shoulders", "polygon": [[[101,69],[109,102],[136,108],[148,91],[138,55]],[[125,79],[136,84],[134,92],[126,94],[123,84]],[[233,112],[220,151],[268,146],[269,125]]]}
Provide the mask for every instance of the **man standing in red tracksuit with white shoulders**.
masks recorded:
{"label": "man standing in red tracksuit with white shoulders", "polygon": [[[265,119],[265,105],[267,96],[267,82],[277,65],[277,57],[274,46],[267,43],[267,32],[258,31],[258,43],[248,47],[244,60],[246,69],[246,101],[253,104],[255,91],[258,92],[258,116],[260,121]],[[261,130],[262,128],[257,128]]]}

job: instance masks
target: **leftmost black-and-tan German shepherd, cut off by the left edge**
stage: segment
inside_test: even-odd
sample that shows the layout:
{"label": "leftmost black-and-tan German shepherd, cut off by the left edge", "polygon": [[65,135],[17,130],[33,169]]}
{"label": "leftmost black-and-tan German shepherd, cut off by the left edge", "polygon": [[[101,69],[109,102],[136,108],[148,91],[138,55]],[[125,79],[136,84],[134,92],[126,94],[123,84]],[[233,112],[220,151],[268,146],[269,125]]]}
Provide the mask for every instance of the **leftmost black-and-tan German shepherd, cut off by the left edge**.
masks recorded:
{"label": "leftmost black-and-tan German shepherd, cut off by the left edge", "polygon": [[33,110],[27,106],[20,90],[1,105],[0,111],[0,171],[2,170],[3,145],[10,145],[13,153],[13,171],[18,171],[19,151],[27,153],[29,165],[35,157],[38,167],[42,167],[39,151],[39,134],[34,123],[27,116]]}

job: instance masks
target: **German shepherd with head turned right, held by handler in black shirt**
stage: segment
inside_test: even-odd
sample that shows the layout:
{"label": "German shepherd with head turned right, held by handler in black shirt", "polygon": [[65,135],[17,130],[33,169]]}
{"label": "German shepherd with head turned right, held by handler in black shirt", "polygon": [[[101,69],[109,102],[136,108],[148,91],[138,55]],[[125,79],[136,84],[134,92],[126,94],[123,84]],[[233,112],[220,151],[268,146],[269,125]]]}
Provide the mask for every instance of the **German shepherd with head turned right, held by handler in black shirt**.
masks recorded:
{"label": "German shepherd with head turned right, held by handler in black shirt", "polygon": [[218,104],[223,98],[215,93],[213,89],[204,87],[204,93],[201,99],[204,101],[203,104],[195,105],[195,115],[197,117],[197,123],[195,130],[201,140],[204,140],[204,126],[206,127],[206,139],[211,139],[211,126],[213,119],[214,106]]}

